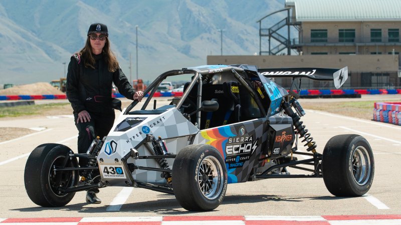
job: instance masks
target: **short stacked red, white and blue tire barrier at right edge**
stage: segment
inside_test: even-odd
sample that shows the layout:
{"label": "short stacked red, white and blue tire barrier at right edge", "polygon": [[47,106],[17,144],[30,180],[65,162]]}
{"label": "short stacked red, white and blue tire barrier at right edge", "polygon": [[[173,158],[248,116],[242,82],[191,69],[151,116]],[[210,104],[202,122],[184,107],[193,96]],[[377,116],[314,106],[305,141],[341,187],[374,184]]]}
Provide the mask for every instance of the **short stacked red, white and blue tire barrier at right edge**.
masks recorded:
{"label": "short stacked red, white and blue tire barrier at right edge", "polygon": [[401,102],[374,102],[373,120],[401,125]]}

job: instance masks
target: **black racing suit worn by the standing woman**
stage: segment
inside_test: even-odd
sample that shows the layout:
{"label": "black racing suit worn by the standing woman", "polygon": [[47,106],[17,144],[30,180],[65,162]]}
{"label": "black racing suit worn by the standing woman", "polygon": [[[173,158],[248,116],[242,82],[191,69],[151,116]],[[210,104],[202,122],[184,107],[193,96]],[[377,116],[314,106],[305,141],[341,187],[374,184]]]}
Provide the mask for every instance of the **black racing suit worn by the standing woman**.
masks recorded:
{"label": "black racing suit worn by the standing woman", "polygon": [[[92,140],[107,135],[113,126],[115,114],[111,105],[112,82],[125,97],[133,100],[132,88],[121,68],[110,72],[103,53],[95,55],[95,68],[85,67],[83,57],[72,56],[68,64],[66,92],[74,110],[74,121],[78,129],[78,152],[86,153]],[[77,123],[78,113],[86,110],[91,116],[89,122]],[[79,165],[88,160],[80,158]]]}

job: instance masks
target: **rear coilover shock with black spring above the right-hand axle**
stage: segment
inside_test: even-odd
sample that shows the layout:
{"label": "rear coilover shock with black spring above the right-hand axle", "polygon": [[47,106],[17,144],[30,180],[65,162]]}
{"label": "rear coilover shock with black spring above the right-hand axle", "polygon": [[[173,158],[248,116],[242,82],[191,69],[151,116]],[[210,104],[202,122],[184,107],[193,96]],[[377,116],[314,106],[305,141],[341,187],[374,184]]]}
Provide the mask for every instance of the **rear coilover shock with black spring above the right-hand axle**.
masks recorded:
{"label": "rear coilover shock with black spring above the right-hand axle", "polygon": [[[292,110],[290,102],[294,106],[297,113]],[[292,118],[296,133],[299,133],[300,137],[304,138],[302,142],[306,142],[304,144],[304,146],[307,146],[306,150],[315,153],[317,147],[316,142],[313,141],[313,137],[311,137],[311,134],[308,133],[308,129],[305,129],[305,125],[302,125],[303,122],[301,121],[300,117],[305,114],[305,111],[294,97],[291,97],[290,102],[285,101],[284,103],[282,103],[282,107],[287,115]]]}

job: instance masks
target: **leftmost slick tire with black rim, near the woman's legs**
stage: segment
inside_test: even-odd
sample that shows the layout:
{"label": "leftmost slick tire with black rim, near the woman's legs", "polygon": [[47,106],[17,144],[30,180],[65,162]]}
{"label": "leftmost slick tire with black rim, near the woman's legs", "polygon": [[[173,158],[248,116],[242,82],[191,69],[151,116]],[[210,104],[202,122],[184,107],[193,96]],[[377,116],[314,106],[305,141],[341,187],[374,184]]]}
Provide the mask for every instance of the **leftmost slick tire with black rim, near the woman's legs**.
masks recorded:
{"label": "leftmost slick tire with black rim, near the woman's legs", "polygon": [[78,171],[54,171],[62,166],[78,167],[77,158],[68,156],[70,151],[65,145],[46,143],[29,155],[24,173],[25,189],[35,204],[58,207],[74,197],[75,192],[63,193],[60,188],[75,186],[79,180]]}

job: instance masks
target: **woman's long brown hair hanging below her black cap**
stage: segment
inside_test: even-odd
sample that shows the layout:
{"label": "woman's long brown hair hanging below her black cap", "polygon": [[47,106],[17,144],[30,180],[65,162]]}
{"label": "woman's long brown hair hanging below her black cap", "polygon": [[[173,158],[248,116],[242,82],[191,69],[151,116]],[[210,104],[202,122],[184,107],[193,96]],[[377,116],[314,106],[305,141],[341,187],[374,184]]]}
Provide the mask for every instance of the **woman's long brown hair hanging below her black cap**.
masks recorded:
{"label": "woman's long brown hair hanging below her black cap", "polygon": [[[110,72],[115,72],[118,69],[118,61],[110,49],[110,41],[109,38],[106,37],[106,42],[104,43],[103,47],[103,57],[108,65],[108,70]],[[86,38],[85,46],[79,51],[79,54],[82,56],[84,60],[85,67],[95,68],[95,57],[93,56],[91,41],[89,36]]]}

